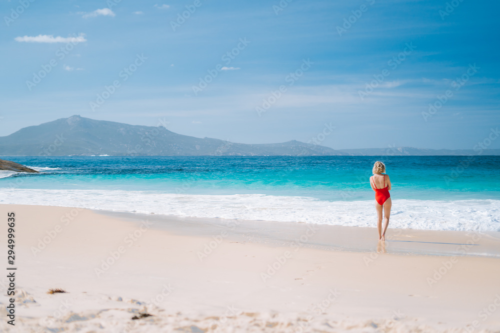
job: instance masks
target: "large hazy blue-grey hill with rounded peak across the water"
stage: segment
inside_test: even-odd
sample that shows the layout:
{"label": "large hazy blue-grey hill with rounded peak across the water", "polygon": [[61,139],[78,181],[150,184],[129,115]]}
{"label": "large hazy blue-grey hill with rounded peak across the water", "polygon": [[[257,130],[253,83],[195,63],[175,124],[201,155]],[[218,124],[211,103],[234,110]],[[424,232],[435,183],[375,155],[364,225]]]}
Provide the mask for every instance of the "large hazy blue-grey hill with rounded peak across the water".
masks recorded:
{"label": "large hazy blue-grey hill with rounded peak across the water", "polygon": [[173,133],[162,126],[128,125],[93,120],[78,115],[29,126],[0,137],[1,156],[328,156],[347,155],[334,149],[288,141],[243,144],[195,138]]}

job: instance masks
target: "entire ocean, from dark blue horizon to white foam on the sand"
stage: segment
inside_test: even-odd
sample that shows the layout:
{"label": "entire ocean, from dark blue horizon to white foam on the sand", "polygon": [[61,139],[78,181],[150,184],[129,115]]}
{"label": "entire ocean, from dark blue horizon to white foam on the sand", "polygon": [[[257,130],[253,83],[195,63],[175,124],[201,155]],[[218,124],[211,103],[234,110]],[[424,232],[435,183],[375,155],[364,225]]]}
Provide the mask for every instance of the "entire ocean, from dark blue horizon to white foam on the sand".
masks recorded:
{"label": "entire ocean, from dark blue horizon to white foam on the sand", "polygon": [[9,157],[2,204],[374,227],[368,178],[390,175],[389,227],[500,231],[500,156]]}

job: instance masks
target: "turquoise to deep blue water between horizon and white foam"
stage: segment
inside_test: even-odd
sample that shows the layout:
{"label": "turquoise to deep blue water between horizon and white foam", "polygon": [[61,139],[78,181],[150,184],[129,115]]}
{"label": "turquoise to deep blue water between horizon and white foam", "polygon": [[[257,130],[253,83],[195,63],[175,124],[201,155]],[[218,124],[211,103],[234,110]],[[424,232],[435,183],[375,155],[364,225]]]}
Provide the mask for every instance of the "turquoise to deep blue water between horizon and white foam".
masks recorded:
{"label": "turquoise to deep blue water between horizon and white foam", "polygon": [[391,196],[417,200],[500,199],[500,156],[2,157],[42,170],[4,173],[0,188],[265,194],[327,201],[373,198],[381,160]]}

